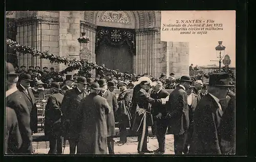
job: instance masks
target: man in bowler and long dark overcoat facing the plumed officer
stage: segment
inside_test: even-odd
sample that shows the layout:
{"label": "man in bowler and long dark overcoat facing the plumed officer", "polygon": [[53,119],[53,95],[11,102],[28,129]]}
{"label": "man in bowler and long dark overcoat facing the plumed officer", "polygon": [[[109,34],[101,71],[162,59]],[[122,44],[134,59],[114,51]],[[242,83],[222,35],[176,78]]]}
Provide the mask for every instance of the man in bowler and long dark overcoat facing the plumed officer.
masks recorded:
{"label": "man in bowler and long dark overcoat facing the plumed officer", "polygon": [[174,134],[175,154],[186,153],[185,144],[187,139],[187,129],[189,127],[187,92],[192,81],[189,76],[182,76],[180,85],[170,93],[167,118],[169,119],[168,132]]}

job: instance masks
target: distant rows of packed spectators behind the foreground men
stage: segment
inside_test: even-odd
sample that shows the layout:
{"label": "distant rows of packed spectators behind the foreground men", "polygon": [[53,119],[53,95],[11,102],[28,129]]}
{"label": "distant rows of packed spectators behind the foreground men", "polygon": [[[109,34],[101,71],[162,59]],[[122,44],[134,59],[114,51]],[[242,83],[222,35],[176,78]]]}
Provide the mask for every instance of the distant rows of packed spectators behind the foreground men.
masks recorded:
{"label": "distant rows of packed spectators behind the foreground men", "polygon": [[[35,66],[35,67],[29,66],[29,68],[27,70],[27,67],[25,65],[20,66],[20,68],[18,68],[18,66],[15,66],[14,69],[15,69],[15,73],[17,73],[17,74],[31,75],[31,79],[33,80],[30,84],[31,87],[37,87],[39,85],[40,87],[44,87],[47,89],[50,87],[50,84],[52,82],[59,82],[60,87],[65,86],[66,79],[62,76],[59,76],[58,72],[55,71],[54,67],[51,67],[50,71],[48,71],[48,67],[43,67],[41,70],[40,66]],[[73,78],[76,79],[78,76],[79,75],[76,73],[73,75]],[[147,76],[152,81],[161,80],[163,82],[163,86],[165,89],[174,89],[177,85],[177,83],[174,82],[174,80],[175,80],[174,73],[170,73],[169,77],[167,77],[164,73],[161,73],[161,75],[156,78],[148,75],[147,73],[145,73],[143,75],[132,74],[131,77],[121,76],[120,74],[108,73],[108,74],[101,74],[101,75],[97,74],[96,78],[94,80],[99,80],[99,79],[106,79],[107,81],[112,80],[115,82],[116,87],[118,86],[120,81],[124,81],[127,83],[128,88],[132,89],[134,82],[136,82],[140,77],[143,77],[143,76]],[[67,75],[66,75],[66,77],[67,77]],[[70,75],[68,77],[70,77]],[[89,77],[84,76],[84,77],[91,78],[91,76],[89,76]],[[40,81],[39,84],[38,84],[38,81]],[[44,84],[42,84],[42,83],[44,83]]]}

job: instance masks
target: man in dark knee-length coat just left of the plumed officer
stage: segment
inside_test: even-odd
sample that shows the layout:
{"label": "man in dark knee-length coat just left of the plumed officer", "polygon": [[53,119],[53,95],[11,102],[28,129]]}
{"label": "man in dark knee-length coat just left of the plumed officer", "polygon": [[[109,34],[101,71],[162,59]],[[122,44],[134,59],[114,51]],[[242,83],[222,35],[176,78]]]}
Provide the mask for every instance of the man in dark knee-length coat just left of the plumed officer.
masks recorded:
{"label": "man in dark knee-length coat just left of the plumed officer", "polygon": [[132,98],[132,93],[127,90],[126,88],[127,83],[124,81],[121,81],[119,83],[119,88],[121,91],[121,94],[119,94],[117,102],[118,102],[118,109],[117,109],[117,121],[119,124],[119,135],[120,135],[120,141],[119,146],[124,145],[127,142],[127,136],[126,136],[126,128],[131,127],[131,119],[132,115],[129,110],[129,102],[131,101]]}

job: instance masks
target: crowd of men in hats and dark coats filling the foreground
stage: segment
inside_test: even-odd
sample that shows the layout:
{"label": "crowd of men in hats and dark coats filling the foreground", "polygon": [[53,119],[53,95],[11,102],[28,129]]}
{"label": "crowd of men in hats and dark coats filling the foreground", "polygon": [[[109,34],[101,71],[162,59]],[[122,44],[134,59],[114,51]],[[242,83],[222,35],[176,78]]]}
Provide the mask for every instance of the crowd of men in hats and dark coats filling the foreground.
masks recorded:
{"label": "crowd of men in hats and dark coats filling the foreground", "polygon": [[[33,154],[32,134],[37,132],[35,94],[44,86],[51,94],[45,107],[49,154],[61,154],[66,141],[70,154],[76,150],[77,154],[115,154],[117,122],[118,145],[127,142],[126,129],[130,128],[138,134],[139,154],[163,154],[167,129],[174,134],[175,154],[234,153],[236,99],[226,73],[211,74],[207,83],[182,76],[178,84],[167,85],[161,81],[166,79],[164,74],[159,79],[144,74],[136,81],[116,79],[111,74],[96,75],[95,79],[67,75],[63,81],[44,83],[39,69],[32,70],[32,74],[23,69],[18,74],[11,63],[6,63],[6,71],[8,154]],[[54,69],[49,73],[54,74]],[[170,79],[174,76],[171,74]],[[120,90],[118,95],[116,88]],[[174,90],[169,93],[165,89]],[[157,150],[147,148],[148,127],[157,137]]]}

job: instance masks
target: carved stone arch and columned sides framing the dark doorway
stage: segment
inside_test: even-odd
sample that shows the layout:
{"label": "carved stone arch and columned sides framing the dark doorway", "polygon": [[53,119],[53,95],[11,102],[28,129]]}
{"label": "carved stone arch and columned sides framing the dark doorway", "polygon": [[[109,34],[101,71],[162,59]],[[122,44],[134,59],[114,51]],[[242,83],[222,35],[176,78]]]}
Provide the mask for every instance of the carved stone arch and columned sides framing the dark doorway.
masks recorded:
{"label": "carved stone arch and columned sides framing the dark doorway", "polygon": [[[163,62],[156,60],[160,52],[160,11],[83,11],[81,32],[89,33],[95,51],[96,27],[136,29],[136,54],[133,56],[133,73],[157,76]],[[94,54],[91,61],[96,61]],[[166,70],[165,70],[166,71]]]}

